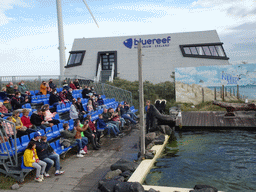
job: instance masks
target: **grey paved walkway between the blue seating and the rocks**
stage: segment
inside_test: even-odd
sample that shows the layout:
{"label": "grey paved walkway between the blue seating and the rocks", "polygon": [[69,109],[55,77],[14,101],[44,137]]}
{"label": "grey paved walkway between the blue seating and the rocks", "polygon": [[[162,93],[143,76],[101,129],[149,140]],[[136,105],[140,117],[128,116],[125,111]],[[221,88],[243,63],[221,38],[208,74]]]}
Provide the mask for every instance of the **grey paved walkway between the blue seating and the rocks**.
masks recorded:
{"label": "grey paved walkway between the blue seating and the rocks", "polygon": [[54,176],[54,169],[51,168],[49,172],[51,177],[41,183],[35,181],[25,183],[16,191],[98,191],[98,181],[110,171],[110,165],[120,158],[136,159],[139,151],[138,141],[138,129],[133,129],[123,138],[103,138],[100,150],[88,150],[88,154],[83,158],[77,158],[73,153],[72,156],[62,160],[64,175]]}

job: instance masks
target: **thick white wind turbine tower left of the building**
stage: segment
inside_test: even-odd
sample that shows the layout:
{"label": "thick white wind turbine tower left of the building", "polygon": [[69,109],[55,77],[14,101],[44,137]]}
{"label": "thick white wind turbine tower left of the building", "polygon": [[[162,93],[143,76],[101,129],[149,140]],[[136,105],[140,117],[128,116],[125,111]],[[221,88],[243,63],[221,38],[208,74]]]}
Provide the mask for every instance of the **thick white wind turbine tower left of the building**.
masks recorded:
{"label": "thick white wind turbine tower left of the building", "polygon": [[64,45],[61,0],[56,0],[56,4],[57,4],[58,33],[59,33],[60,76],[62,80],[64,76],[64,66],[66,64],[66,56],[65,56],[65,45]]}

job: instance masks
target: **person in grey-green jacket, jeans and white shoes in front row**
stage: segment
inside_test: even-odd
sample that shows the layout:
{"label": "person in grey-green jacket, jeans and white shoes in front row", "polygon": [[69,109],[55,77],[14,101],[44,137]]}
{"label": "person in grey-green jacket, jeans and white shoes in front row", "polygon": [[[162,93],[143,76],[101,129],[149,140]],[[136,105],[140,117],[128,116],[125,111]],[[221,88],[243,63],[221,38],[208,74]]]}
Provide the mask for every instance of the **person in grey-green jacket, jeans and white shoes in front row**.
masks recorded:
{"label": "person in grey-green jacket, jeans and white shoes in front row", "polygon": [[83,141],[84,143],[82,143],[82,139],[75,139],[77,131],[75,128],[73,131],[70,131],[69,125],[67,123],[63,124],[63,128],[64,130],[60,132],[61,138],[68,139],[71,145],[77,145],[78,146],[77,157],[84,157],[84,154],[86,154],[86,152],[83,150],[83,148],[87,145],[85,139]]}

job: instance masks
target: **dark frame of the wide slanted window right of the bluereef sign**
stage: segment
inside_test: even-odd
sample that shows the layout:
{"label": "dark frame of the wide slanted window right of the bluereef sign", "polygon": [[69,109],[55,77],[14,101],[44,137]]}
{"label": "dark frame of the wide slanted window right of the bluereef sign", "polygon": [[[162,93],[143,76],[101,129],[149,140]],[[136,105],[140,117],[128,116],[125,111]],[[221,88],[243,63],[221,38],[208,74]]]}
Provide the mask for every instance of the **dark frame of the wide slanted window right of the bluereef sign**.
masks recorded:
{"label": "dark frame of the wide slanted window right of the bluereef sign", "polygon": [[[221,43],[221,42],[218,42],[218,43],[202,43],[202,44],[186,44],[186,45],[180,45],[180,50],[181,50],[181,53],[182,53],[183,57],[228,60],[229,58],[227,57],[226,52],[225,52],[222,45],[223,45],[223,43]],[[212,55],[213,53],[211,53],[210,46],[214,46],[218,56]],[[215,46],[221,46],[224,56],[219,56],[218,50]],[[203,50],[204,55],[200,55],[199,52],[198,52],[198,54],[192,54],[192,51],[191,51],[190,47],[195,47],[197,52],[198,52],[197,47],[201,47],[202,50]],[[208,47],[211,55],[206,55],[203,47]],[[184,48],[189,48],[191,54],[186,54]]]}

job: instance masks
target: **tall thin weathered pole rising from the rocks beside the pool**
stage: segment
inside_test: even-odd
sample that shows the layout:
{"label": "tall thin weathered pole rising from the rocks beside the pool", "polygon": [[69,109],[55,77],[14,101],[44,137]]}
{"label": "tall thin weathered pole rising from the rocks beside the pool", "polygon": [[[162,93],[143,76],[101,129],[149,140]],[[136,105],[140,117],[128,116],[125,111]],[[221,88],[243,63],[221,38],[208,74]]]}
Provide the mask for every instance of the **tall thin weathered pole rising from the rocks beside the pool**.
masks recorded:
{"label": "tall thin weathered pole rising from the rocks beside the pool", "polygon": [[145,120],[144,120],[144,92],[142,80],[141,43],[138,43],[138,75],[140,101],[140,130],[141,130],[141,157],[145,155]]}

